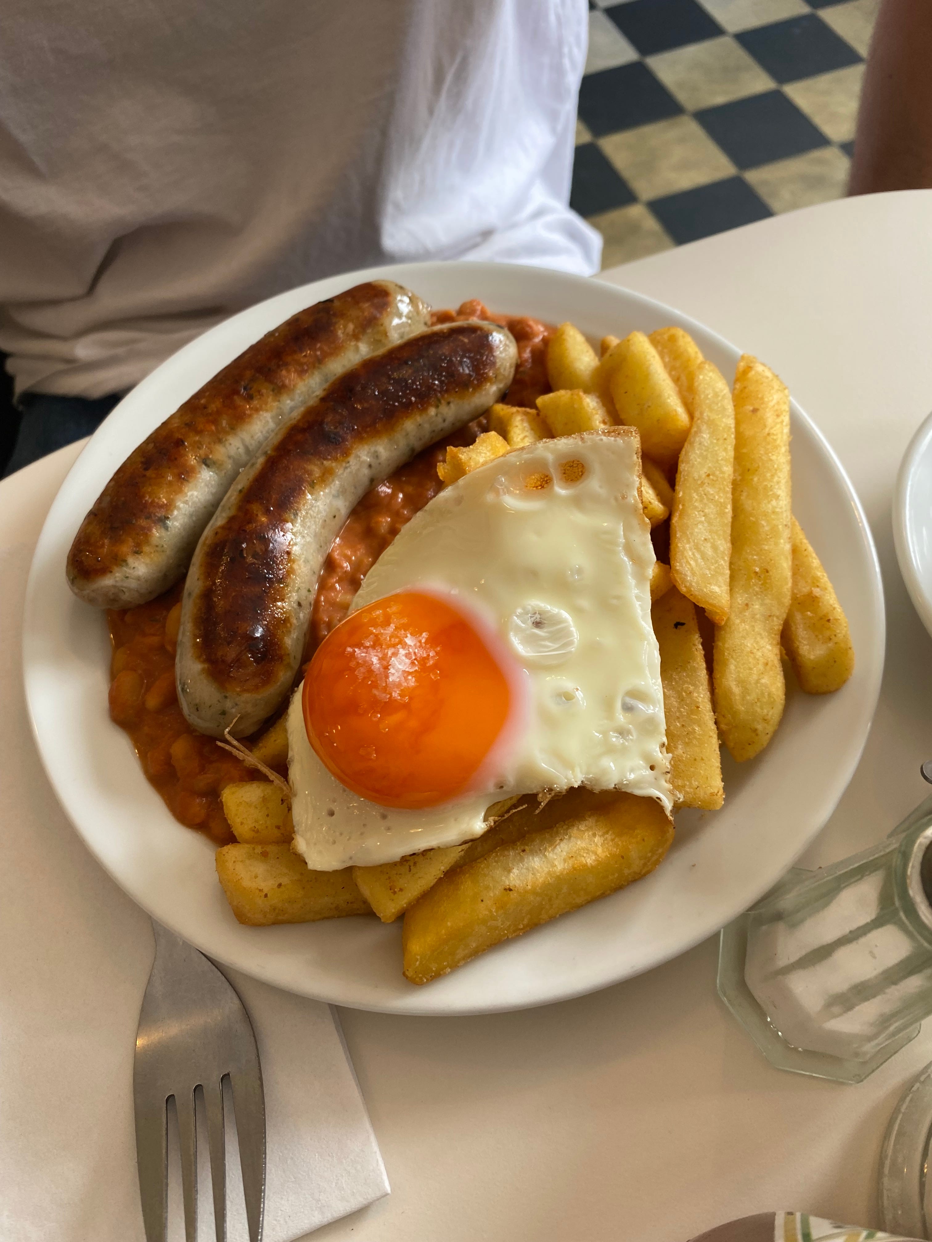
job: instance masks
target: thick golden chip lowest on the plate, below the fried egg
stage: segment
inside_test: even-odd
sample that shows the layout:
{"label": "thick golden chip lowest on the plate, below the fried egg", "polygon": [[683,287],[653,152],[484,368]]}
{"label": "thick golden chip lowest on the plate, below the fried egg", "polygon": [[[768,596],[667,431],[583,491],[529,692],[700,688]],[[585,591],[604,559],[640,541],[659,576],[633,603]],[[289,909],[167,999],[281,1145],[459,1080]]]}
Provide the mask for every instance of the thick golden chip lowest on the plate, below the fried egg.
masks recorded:
{"label": "thick golden chip lowest on the plate, below the fried egg", "polygon": [[674,826],[659,802],[609,791],[588,794],[585,804],[584,814],[502,845],[425,893],[405,914],[405,977],[437,979],[502,940],[640,879],[662,861]]}

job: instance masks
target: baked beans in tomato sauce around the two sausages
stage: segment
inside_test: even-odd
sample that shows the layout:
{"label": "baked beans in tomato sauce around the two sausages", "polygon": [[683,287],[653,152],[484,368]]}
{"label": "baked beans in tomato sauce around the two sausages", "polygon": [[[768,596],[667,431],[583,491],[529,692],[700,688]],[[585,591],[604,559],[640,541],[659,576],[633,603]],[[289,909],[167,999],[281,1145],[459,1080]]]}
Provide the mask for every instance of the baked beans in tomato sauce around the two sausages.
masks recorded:
{"label": "baked beans in tomato sauce around the two sausages", "polygon": [[[553,328],[538,319],[490,314],[475,299],[464,302],[459,310],[437,310],[432,315],[432,323],[460,319],[500,323],[514,337],[518,365],[503,401],[533,406],[538,396],[551,391],[546,354]],[[419,453],[357,504],[334,539],[318,580],[306,662],[347,615],[363,579],[401,527],[440,491],[437,465],[447,445],[471,445],[483,431],[485,417],[476,419]],[[257,780],[258,774],[214,738],[196,733],[184,718],[175,689],[183,589],[181,581],[149,604],[107,612],[113,645],[111,717],[129,734],[147,779],[174,817],[217,845],[226,845],[234,836],[220,794],[232,781]]]}

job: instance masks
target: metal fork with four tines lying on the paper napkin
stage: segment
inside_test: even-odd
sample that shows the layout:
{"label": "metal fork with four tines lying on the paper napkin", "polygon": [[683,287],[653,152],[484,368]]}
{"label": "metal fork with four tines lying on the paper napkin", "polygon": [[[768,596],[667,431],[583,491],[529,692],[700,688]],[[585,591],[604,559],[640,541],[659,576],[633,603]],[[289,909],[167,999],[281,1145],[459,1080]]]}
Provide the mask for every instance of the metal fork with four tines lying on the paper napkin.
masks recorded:
{"label": "metal fork with four tines lying on the paper napkin", "polygon": [[139,1012],[133,1064],[135,1153],[147,1242],[168,1228],[168,1100],[174,1097],[181,1153],[186,1242],[198,1232],[198,1135],[194,1092],[201,1087],[217,1242],[226,1242],[222,1079],[232,1090],[250,1242],[261,1242],[266,1180],[266,1113],[256,1037],[232,986],[204,954],[153,919],[155,960]]}

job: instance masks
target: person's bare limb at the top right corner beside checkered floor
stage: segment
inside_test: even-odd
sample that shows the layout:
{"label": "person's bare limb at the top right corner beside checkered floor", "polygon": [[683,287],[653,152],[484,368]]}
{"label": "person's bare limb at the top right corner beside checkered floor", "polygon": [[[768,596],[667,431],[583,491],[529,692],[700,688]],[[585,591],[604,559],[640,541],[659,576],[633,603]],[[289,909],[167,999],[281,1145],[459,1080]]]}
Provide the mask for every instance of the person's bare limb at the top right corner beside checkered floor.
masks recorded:
{"label": "person's bare limb at the top right corner beside checkered floor", "polygon": [[849,194],[932,188],[932,2],[882,0]]}

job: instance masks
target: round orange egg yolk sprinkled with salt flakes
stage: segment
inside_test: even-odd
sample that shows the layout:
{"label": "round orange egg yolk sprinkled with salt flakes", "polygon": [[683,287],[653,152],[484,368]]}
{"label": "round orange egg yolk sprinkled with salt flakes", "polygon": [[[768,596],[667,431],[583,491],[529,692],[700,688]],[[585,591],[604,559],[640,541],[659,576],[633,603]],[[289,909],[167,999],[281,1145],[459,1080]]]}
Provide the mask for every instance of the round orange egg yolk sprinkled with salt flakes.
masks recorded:
{"label": "round orange egg yolk sprinkled with salt flakes", "polygon": [[419,810],[466,789],[508,718],[511,692],[461,612],[401,591],[331,631],[302,708],[308,740],[338,781],[381,806]]}

